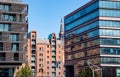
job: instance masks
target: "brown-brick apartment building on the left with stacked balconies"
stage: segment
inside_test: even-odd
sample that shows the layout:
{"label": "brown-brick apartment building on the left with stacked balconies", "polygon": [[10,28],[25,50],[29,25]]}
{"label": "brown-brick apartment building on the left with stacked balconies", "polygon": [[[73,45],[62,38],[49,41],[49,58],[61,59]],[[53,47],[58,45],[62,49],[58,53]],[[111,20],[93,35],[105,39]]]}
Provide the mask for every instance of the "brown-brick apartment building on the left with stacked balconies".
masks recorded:
{"label": "brown-brick apartment building on the left with stacked balconies", "polygon": [[14,77],[25,62],[27,7],[20,0],[0,0],[0,77]]}

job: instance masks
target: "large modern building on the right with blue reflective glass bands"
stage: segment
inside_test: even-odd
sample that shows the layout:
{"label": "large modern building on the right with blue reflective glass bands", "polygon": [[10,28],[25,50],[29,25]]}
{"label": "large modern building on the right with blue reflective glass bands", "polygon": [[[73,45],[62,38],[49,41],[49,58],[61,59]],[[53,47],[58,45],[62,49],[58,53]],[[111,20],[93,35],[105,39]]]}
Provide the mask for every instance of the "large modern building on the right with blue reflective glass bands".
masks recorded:
{"label": "large modern building on the right with blue reflective glass bands", "polygon": [[64,17],[66,77],[88,63],[98,77],[120,77],[120,0],[91,0]]}

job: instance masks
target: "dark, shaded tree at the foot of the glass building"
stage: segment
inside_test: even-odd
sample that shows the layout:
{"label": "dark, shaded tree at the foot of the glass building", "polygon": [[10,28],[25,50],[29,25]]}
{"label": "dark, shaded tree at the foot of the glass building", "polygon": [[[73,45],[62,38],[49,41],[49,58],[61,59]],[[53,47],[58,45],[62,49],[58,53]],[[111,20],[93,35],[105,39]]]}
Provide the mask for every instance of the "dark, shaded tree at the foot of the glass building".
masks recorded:
{"label": "dark, shaded tree at the foot of the glass building", "polygon": [[[92,71],[90,68],[81,69],[78,73],[78,77],[92,77]],[[95,77],[97,77],[97,73],[95,72]]]}

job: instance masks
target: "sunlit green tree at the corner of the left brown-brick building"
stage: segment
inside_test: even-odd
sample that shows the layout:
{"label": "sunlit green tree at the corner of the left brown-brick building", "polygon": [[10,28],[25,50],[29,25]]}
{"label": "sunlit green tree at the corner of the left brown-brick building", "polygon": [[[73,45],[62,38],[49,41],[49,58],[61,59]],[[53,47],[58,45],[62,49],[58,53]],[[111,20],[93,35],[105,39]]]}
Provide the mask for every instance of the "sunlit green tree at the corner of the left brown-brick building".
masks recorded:
{"label": "sunlit green tree at the corner of the left brown-brick building", "polygon": [[30,69],[28,64],[25,64],[17,73],[17,77],[32,77],[32,70]]}

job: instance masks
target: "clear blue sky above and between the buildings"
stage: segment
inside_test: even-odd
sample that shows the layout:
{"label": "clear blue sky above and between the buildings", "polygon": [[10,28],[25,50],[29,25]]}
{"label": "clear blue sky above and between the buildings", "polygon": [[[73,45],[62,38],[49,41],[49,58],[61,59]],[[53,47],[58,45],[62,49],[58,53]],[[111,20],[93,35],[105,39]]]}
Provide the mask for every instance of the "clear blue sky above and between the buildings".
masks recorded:
{"label": "clear blue sky above and between the buildings", "polygon": [[86,4],[90,0],[23,0],[28,4],[28,31],[37,31],[38,38],[48,38],[60,31],[60,21],[64,16]]}

